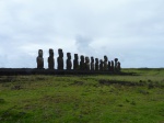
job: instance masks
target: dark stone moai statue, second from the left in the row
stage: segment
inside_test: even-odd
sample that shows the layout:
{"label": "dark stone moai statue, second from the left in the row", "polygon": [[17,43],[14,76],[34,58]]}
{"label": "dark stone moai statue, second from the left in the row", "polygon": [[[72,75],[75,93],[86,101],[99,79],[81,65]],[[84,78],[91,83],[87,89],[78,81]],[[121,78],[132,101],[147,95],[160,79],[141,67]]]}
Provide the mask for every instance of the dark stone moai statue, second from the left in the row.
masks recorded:
{"label": "dark stone moai statue, second from the left in the row", "polygon": [[54,49],[49,48],[48,69],[54,69],[54,67],[55,67]]}

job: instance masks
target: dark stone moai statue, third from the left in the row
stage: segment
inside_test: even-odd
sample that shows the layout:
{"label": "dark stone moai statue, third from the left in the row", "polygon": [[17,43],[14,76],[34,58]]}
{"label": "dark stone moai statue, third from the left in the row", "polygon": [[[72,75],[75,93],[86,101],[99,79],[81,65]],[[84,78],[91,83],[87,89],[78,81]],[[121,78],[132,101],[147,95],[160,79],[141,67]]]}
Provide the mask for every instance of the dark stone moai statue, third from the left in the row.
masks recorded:
{"label": "dark stone moai statue, third from the left in the row", "polygon": [[59,54],[59,57],[58,57],[58,69],[62,70],[63,69],[63,53],[62,53],[61,48],[58,49],[58,54]]}

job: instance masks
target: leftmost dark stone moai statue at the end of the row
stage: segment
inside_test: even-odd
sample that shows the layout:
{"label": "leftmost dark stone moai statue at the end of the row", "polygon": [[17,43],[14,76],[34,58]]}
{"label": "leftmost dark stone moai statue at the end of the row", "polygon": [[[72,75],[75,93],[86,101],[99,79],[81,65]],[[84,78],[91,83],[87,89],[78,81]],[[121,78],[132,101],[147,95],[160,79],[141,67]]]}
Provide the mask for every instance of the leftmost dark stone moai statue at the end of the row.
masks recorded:
{"label": "leftmost dark stone moai statue at the end of the row", "polygon": [[37,62],[37,69],[44,68],[44,58],[43,58],[43,49],[38,49],[38,56],[36,58]]}

